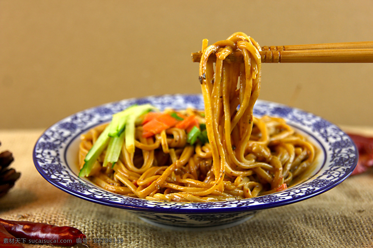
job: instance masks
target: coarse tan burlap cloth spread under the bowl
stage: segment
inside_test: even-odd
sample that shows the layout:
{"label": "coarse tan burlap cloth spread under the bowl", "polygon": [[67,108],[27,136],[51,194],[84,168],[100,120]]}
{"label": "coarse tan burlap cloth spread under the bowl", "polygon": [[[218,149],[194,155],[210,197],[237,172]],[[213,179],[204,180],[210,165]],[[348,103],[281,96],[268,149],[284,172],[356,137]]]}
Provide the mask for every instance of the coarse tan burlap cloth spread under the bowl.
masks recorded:
{"label": "coarse tan burlap cloth spread under the bowl", "polygon": [[[12,151],[12,167],[22,173],[15,187],[0,199],[0,218],[74,226],[90,239],[123,238],[122,244],[91,247],[373,247],[372,171],[347,178],[312,199],[258,212],[233,228],[172,231],[151,226],[125,210],[78,199],[49,184],[32,162],[32,149],[42,132],[0,130],[0,151]],[[373,128],[364,132],[373,134]]]}

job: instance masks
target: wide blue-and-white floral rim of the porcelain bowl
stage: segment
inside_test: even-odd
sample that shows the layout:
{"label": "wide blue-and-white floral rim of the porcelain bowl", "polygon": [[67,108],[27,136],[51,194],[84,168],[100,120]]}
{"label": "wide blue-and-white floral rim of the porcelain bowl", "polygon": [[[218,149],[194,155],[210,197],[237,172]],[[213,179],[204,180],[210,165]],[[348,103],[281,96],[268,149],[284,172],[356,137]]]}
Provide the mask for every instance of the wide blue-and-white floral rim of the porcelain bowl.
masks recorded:
{"label": "wide blue-and-white floral rim of the porcelain bowl", "polygon": [[[164,99],[168,99],[168,102],[166,101],[167,102],[166,104],[163,102]],[[172,100],[171,103],[169,103],[170,102],[169,99]],[[188,99],[189,100],[191,99],[192,101],[197,101],[197,102],[196,103],[188,102]],[[258,112],[258,111],[256,111],[256,109],[258,108],[258,106],[261,106],[261,109],[259,110],[259,112],[260,111],[263,112],[264,111],[263,108],[268,108],[269,107],[269,108],[272,108],[272,110],[280,111],[280,115],[284,115],[284,116],[280,116],[280,115],[277,115],[277,116],[285,117],[285,119],[287,119],[287,121],[289,121],[288,120],[289,118],[286,117],[286,116],[289,116],[290,114],[294,114],[294,116],[296,116],[296,115],[307,116],[307,118],[314,119],[316,121],[320,121],[320,125],[321,125],[322,129],[325,129],[325,130],[328,129],[329,132],[332,132],[331,133],[332,136],[333,136],[332,138],[339,139],[339,141],[336,141],[335,143],[342,142],[343,143],[342,145],[344,145],[344,146],[341,149],[343,149],[343,151],[349,150],[349,152],[351,153],[350,154],[351,157],[348,158],[348,162],[350,163],[350,165],[346,166],[345,167],[346,170],[342,170],[342,174],[339,174],[338,177],[336,177],[335,180],[333,179],[334,181],[332,181],[332,183],[330,183],[330,180],[326,180],[324,178],[322,180],[326,180],[326,181],[319,182],[320,187],[318,187],[318,188],[315,188],[315,186],[312,186],[311,184],[310,184],[310,186],[307,186],[307,184],[305,184],[305,183],[307,183],[308,181],[312,182],[312,181],[317,180],[317,178],[314,178],[314,176],[313,176],[313,177],[309,178],[308,180],[306,180],[305,182],[303,182],[301,184],[297,184],[297,186],[304,185],[306,188],[307,187],[309,188],[309,189],[307,188],[308,191],[304,194],[301,194],[299,192],[295,192],[294,189],[297,186],[293,186],[293,187],[290,187],[290,188],[288,188],[284,191],[280,191],[280,192],[276,192],[276,193],[268,194],[268,195],[264,195],[264,196],[254,197],[254,198],[250,198],[250,199],[231,200],[231,201],[225,201],[225,202],[207,202],[207,203],[206,202],[194,202],[194,203],[189,203],[189,202],[186,202],[186,203],[160,202],[160,201],[144,200],[144,199],[138,199],[138,198],[133,198],[133,197],[121,196],[121,195],[118,195],[118,194],[115,194],[115,193],[111,193],[111,192],[109,193],[109,191],[103,190],[98,186],[94,186],[93,183],[88,183],[86,180],[83,180],[82,178],[77,177],[77,175],[75,173],[73,173],[73,171],[70,170],[70,168],[69,168],[69,166],[66,162],[67,161],[66,156],[67,156],[67,151],[68,151],[70,145],[72,144],[72,142],[75,141],[82,133],[87,132],[88,129],[91,129],[93,126],[101,125],[101,124],[110,120],[110,119],[107,118],[109,116],[109,114],[110,114],[110,116],[112,115],[112,113],[109,113],[110,111],[107,112],[107,113],[104,113],[103,114],[104,117],[101,116],[102,118],[100,119],[100,115],[102,114],[102,113],[100,113],[101,110],[112,109],[112,112],[117,112],[117,111],[120,111],[120,109],[125,109],[126,106],[132,105],[132,103],[134,103],[134,102],[135,103],[150,102],[151,104],[154,104],[156,106],[158,104],[159,106],[157,106],[157,107],[160,107],[160,109],[163,109],[165,106],[170,107],[169,106],[170,104],[174,105],[175,102],[178,102],[178,101],[179,101],[178,104],[179,105],[182,104],[184,106],[184,108],[186,107],[185,106],[186,102],[188,104],[192,105],[193,107],[201,108],[201,106],[202,106],[202,108],[203,108],[203,98],[202,98],[201,94],[165,94],[165,95],[160,95],[160,96],[147,96],[147,97],[140,97],[140,98],[124,99],[124,100],[120,100],[120,101],[117,101],[117,102],[101,104],[101,105],[98,105],[98,106],[95,106],[95,107],[91,107],[91,108],[79,111],[75,114],[69,115],[69,116],[63,118],[62,120],[60,120],[59,122],[56,122],[53,125],[51,125],[38,138],[37,142],[35,143],[33,152],[32,152],[35,167],[36,167],[37,171],[41,174],[41,176],[45,180],[47,180],[49,183],[51,183],[53,186],[57,187],[58,189],[60,189],[62,191],[65,191],[66,193],[69,193],[69,194],[71,194],[75,197],[78,197],[78,198],[81,198],[81,199],[84,199],[84,200],[87,200],[87,201],[90,201],[90,202],[93,202],[93,203],[98,203],[98,204],[101,204],[101,205],[116,207],[116,208],[120,208],[120,209],[140,211],[140,212],[169,213],[169,214],[196,214],[196,213],[198,213],[198,214],[202,214],[202,213],[208,214],[208,213],[235,213],[235,212],[258,211],[258,210],[263,210],[263,209],[269,209],[269,208],[272,208],[272,207],[284,206],[284,205],[288,205],[288,204],[292,204],[292,203],[296,203],[296,202],[300,202],[300,201],[309,199],[311,197],[322,194],[322,193],[332,189],[333,187],[337,186],[338,184],[340,184],[342,181],[344,181],[352,173],[352,171],[354,170],[354,168],[357,164],[357,160],[358,160],[357,148],[356,148],[354,142],[352,141],[352,139],[346,133],[341,131],[341,129],[339,129],[338,126],[328,122],[327,120],[323,119],[322,117],[316,116],[316,115],[314,115],[312,113],[309,113],[309,112],[305,112],[304,110],[301,110],[301,109],[298,109],[298,108],[289,107],[289,106],[286,106],[285,104],[274,103],[274,102],[269,102],[269,101],[265,101],[265,100],[258,100],[257,103],[254,106],[254,115],[255,116],[258,116],[258,115],[256,115],[256,112]],[[180,109],[180,108],[176,107],[175,109]],[[98,111],[98,110],[100,110],[100,111]],[[82,125],[84,128],[79,128],[79,129],[77,128],[76,130],[78,130],[78,131],[75,130],[75,132],[73,132],[73,134],[71,134],[69,136],[69,138],[66,139],[68,142],[65,142],[65,143],[62,142],[61,146],[53,146],[53,144],[49,144],[49,145],[53,146],[53,147],[50,147],[50,148],[53,148],[54,150],[53,149],[48,150],[48,149],[45,149],[45,147],[40,149],[40,145],[42,145],[42,142],[44,142],[46,140],[45,138],[46,138],[46,136],[48,136],[47,135],[48,132],[51,132],[53,130],[58,130],[59,128],[61,129],[62,124],[70,123],[68,121],[71,121],[73,118],[79,119],[79,115],[84,116],[84,113],[87,113],[87,114],[89,113],[90,115],[92,115],[93,113],[96,113],[96,115],[97,115],[96,119],[94,119],[94,121],[93,121],[93,123],[91,123],[91,125],[88,125],[88,126],[87,125],[86,126]],[[330,157],[328,155],[328,152],[330,152],[331,148],[326,147],[329,150],[328,151],[325,148],[325,143],[326,142],[320,141],[320,136],[317,136],[317,137],[314,136],[315,134],[319,134],[319,133],[310,132],[310,130],[307,129],[307,128],[302,129],[302,125],[300,123],[293,122],[292,120],[288,124],[290,124],[291,126],[293,126],[296,129],[299,129],[302,132],[307,133],[307,135],[311,136],[314,139],[314,141],[318,142],[319,147],[322,148],[322,150],[323,150],[322,152],[324,153],[324,161],[323,161],[322,167],[320,167],[320,169],[315,173],[315,175],[317,175],[325,167],[325,164],[328,163],[328,161],[326,161],[326,160],[327,160],[327,158]],[[69,129],[69,127],[67,127],[67,129]],[[73,127],[70,127],[70,129],[73,129]],[[323,131],[325,131],[325,130],[323,130]],[[62,130],[61,132],[63,133],[63,131],[65,131],[65,130]],[[328,134],[326,133],[326,135],[328,135]],[[326,136],[326,138],[330,139],[329,136]],[[335,144],[335,143],[333,143],[333,144]],[[328,143],[326,143],[326,144],[328,144]],[[52,158],[52,162],[49,164],[50,167],[46,167],[45,165],[47,165],[48,163],[46,163],[45,161],[43,161],[43,162],[41,161],[41,159],[43,159],[43,154],[42,154],[43,152],[40,152],[40,150],[52,151],[52,152],[56,151],[56,156],[54,157],[54,159],[56,159],[56,158],[57,159],[55,161],[53,161],[53,158]],[[62,154],[61,154],[61,152],[62,152]],[[47,156],[47,155],[45,155],[45,156]],[[45,156],[44,156],[44,158],[45,158]],[[53,156],[50,156],[50,157],[53,157]],[[47,161],[50,161],[50,159],[47,160]],[[87,192],[82,193],[83,191],[85,191],[85,189],[83,191],[82,190],[79,191],[79,188],[74,189],[73,187],[68,187],[68,186],[62,184],[59,180],[57,180],[58,178],[54,178],[54,176],[57,175],[56,173],[50,173],[51,170],[53,170],[53,166],[57,166],[58,170],[61,170],[61,168],[64,170],[63,173],[65,173],[65,174],[59,174],[59,176],[61,176],[61,175],[63,177],[65,175],[68,176],[66,174],[67,172],[70,172],[70,173],[74,174],[74,175],[69,175],[68,179],[73,180],[73,181],[74,180],[79,181],[79,183],[82,184],[81,189],[84,189],[83,186],[85,186],[85,187],[88,187],[87,188],[88,191],[90,190],[89,187],[92,187],[93,191],[95,191],[95,190],[106,191],[107,195],[116,195],[117,197],[124,199],[123,201],[126,201],[126,202],[120,203],[120,202],[115,202],[113,200],[103,200],[102,198],[97,198],[97,195],[95,196],[95,194],[87,194]],[[333,173],[334,172],[335,171],[333,171]],[[319,177],[321,177],[321,175]],[[310,180],[312,180],[312,181],[310,181]],[[74,184],[74,187],[75,186],[76,186],[76,184]],[[292,190],[294,192],[292,192]],[[100,193],[100,194],[102,194],[102,193]],[[285,197],[285,198],[283,198],[283,197]],[[260,199],[261,199],[261,201],[260,201]],[[154,203],[154,204],[150,204],[150,203]],[[257,204],[255,204],[255,203],[257,203]]]}

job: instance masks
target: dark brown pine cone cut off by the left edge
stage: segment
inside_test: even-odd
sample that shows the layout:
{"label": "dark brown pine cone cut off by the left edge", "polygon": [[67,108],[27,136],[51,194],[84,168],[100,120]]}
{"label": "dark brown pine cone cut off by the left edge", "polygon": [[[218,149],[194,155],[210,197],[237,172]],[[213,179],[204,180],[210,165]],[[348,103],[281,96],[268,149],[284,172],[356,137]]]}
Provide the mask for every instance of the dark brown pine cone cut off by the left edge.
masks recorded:
{"label": "dark brown pine cone cut off by the left edge", "polygon": [[[0,144],[1,145],[1,144]],[[14,169],[7,168],[14,158],[11,152],[5,151],[0,153],[0,197],[10,190],[21,173]]]}

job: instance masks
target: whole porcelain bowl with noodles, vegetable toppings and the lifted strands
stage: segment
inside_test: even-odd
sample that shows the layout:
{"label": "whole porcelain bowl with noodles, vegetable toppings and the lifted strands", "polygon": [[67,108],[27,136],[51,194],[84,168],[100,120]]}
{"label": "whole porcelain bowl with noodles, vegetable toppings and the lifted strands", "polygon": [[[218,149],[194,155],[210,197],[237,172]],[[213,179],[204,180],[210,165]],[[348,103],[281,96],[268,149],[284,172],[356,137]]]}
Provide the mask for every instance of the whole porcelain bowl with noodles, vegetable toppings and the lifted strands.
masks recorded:
{"label": "whole porcelain bowl with noodles, vegetable toppings and the lifted strands", "polygon": [[[202,94],[126,99],[66,117],[35,144],[37,170],[76,197],[173,229],[237,225],[332,189],[357,164],[354,143],[319,116],[257,100],[260,49],[240,32],[204,40]],[[227,61],[231,54],[240,57]]]}

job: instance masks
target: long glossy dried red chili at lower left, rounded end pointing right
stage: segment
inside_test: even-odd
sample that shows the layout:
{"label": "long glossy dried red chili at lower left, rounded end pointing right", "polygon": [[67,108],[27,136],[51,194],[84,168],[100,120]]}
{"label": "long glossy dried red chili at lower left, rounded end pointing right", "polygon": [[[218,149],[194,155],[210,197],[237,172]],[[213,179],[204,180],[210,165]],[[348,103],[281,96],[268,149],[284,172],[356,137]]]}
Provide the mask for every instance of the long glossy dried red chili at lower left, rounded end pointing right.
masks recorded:
{"label": "long glossy dried red chili at lower left, rounded end pointing right", "polygon": [[[45,223],[0,219],[0,225],[16,238],[28,243],[51,243],[54,245],[75,245],[86,236],[71,226],[54,226]],[[79,242],[80,241],[80,242]]]}

